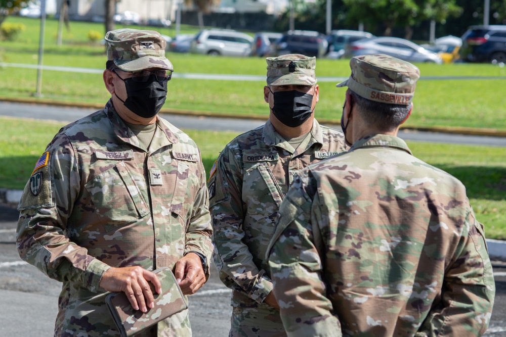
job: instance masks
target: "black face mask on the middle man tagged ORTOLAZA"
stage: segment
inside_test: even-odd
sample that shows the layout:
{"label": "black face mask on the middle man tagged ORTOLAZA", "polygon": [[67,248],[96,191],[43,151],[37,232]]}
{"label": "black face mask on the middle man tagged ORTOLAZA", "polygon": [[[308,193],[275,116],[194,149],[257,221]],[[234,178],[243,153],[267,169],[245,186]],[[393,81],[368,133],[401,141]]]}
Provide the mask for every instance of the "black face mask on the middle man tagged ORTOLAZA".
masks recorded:
{"label": "black face mask on the middle man tagged ORTOLAZA", "polygon": [[302,125],[311,116],[313,111],[313,95],[297,90],[272,92],[274,107],[272,113],[281,123],[289,127]]}

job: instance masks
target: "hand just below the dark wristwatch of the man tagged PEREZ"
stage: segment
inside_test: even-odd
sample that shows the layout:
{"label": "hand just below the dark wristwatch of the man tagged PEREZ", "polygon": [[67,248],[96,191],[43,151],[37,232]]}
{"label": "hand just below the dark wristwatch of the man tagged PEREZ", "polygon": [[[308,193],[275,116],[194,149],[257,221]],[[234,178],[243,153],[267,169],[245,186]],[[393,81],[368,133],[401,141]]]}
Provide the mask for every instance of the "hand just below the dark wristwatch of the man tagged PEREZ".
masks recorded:
{"label": "hand just below the dark wristwatch of the man tagged PEREZ", "polygon": [[176,262],[174,276],[185,295],[193,295],[205,283],[205,274],[200,257],[188,253]]}

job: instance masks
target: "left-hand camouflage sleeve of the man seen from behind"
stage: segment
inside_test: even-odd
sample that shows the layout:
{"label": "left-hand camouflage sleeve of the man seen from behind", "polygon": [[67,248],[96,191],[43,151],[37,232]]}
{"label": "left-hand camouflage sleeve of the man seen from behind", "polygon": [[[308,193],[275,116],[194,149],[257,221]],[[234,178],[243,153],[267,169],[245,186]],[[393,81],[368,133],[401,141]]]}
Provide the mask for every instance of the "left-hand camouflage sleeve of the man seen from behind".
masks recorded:
{"label": "left-hand camouflage sleeve of the man seen from behind", "polygon": [[269,267],[281,320],[292,336],[342,336],[341,324],[322,280],[325,229],[316,184],[308,171],[294,180],[283,200],[269,244]]}

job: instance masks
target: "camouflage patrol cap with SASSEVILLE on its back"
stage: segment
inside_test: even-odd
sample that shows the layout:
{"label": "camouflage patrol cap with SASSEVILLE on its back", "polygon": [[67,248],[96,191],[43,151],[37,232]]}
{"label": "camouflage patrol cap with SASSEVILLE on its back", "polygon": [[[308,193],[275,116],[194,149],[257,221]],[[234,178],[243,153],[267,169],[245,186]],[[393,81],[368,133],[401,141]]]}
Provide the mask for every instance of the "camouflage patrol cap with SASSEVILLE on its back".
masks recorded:
{"label": "camouflage patrol cap with SASSEVILLE on its back", "polygon": [[337,87],[348,86],[359,96],[380,103],[409,105],[420,70],[409,62],[383,54],[350,60],[351,76]]}

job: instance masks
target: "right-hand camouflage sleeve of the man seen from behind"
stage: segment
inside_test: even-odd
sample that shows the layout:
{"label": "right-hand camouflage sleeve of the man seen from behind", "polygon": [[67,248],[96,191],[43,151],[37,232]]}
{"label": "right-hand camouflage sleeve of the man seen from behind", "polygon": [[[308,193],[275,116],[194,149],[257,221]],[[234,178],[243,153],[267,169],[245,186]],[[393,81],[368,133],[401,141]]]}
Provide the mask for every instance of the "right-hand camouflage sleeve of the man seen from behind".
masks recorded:
{"label": "right-hand camouflage sleeve of the man seen from behind", "polygon": [[487,330],[495,282],[483,225],[471,208],[463,227],[469,233],[462,234],[446,268],[441,305],[429,312],[416,337],[481,336]]}

